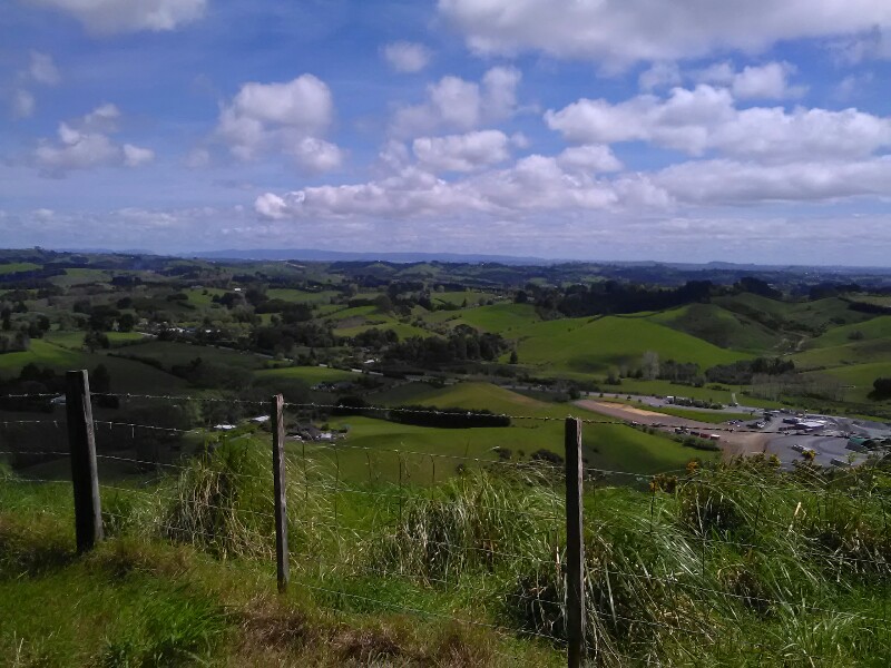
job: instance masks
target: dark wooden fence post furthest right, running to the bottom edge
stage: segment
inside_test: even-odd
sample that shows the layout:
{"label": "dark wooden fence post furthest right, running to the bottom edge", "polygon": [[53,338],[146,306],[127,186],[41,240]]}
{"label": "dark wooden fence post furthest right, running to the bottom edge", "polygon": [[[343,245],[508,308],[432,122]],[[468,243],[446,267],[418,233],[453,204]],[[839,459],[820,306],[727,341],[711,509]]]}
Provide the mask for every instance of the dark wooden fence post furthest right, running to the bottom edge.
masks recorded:
{"label": "dark wooden fence post furthest right, running to the bottom edge", "polygon": [[585,543],[581,502],[581,421],[566,419],[566,638],[569,668],[585,656]]}

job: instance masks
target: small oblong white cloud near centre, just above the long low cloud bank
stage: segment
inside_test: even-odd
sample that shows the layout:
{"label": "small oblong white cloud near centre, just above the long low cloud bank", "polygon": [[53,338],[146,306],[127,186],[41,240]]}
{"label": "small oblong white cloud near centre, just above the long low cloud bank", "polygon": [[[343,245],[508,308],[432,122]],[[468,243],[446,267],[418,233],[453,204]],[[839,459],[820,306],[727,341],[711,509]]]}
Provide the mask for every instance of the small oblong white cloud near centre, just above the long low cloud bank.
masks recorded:
{"label": "small oblong white cloud near centre, just above the long low cloud bank", "polygon": [[482,130],[447,137],[419,137],[412,151],[432,171],[473,171],[510,157],[510,139],[500,130]]}

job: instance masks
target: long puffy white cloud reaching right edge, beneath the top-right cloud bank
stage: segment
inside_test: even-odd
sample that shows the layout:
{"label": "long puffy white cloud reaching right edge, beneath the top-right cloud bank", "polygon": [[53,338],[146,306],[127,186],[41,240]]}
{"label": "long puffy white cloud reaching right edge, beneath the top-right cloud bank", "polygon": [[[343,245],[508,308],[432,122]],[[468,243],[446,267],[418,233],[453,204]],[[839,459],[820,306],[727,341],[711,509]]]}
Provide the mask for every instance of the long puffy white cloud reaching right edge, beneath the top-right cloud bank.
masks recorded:
{"label": "long puffy white cloud reaching right edge, beneath the top-right cloud bank", "polygon": [[891,119],[856,109],[736,109],[726,89],[675,88],[666,99],[642,95],[613,105],[581,99],[545,114],[577,144],[642,140],[701,156],[715,150],[765,163],[868,156],[891,144]]}

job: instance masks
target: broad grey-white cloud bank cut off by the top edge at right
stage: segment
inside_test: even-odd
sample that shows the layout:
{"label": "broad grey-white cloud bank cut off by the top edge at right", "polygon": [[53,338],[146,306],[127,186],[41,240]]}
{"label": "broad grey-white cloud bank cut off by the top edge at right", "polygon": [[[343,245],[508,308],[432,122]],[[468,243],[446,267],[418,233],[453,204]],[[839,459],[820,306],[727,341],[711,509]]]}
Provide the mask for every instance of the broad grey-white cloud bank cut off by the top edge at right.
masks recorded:
{"label": "broad grey-white cloud bank cut off by the top edge at right", "polygon": [[439,0],[439,11],[479,53],[540,50],[619,67],[891,27],[883,0]]}

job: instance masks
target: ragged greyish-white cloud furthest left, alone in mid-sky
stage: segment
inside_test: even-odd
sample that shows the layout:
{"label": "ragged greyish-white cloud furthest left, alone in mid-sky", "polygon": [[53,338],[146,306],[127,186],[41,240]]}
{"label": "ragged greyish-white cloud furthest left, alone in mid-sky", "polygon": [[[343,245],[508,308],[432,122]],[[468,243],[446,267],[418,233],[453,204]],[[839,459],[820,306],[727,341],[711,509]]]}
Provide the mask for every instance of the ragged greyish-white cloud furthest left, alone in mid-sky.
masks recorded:
{"label": "ragged greyish-white cloud furthest left, alone in mid-sky", "polygon": [[150,163],[155,158],[151,149],[121,146],[111,139],[119,117],[115,105],[101,105],[80,119],[59,124],[58,139],[41,139],[35,149],[35,165],[45,176],[62,177],[78,169]]}

